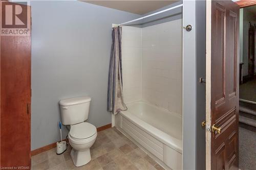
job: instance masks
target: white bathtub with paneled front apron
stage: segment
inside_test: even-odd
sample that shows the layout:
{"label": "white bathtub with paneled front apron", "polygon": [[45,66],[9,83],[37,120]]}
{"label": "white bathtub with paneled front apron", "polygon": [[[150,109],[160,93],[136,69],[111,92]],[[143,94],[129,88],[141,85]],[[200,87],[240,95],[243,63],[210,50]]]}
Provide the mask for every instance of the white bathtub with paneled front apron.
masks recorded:
{"label": "white bathtub with paneled front apron", "polygon": [[167,169],[182,168],[182,117],[145,102],[126,104],[115,127]]}

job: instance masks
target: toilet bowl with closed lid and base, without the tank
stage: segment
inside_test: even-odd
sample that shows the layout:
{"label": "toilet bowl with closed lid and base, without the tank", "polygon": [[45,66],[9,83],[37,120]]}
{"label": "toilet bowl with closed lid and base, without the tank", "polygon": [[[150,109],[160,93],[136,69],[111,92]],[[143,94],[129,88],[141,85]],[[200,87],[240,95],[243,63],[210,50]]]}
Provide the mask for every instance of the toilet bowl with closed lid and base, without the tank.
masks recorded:
{"label": "toilet bowl with closed lid and base, without the tank", "polygon": [[75,166],[82,166],[91,161],[90,148],[97,137],[96,127],[83,122],[72,125],[69,132],[69,143],[72,147],[70,156]]}

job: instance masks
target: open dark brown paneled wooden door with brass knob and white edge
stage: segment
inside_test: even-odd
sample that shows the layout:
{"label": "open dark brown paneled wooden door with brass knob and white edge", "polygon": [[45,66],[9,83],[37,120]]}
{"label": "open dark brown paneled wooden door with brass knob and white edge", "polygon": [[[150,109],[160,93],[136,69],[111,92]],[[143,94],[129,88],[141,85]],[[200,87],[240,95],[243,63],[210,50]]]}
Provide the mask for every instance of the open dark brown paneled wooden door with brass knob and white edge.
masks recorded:
{"label": "open dark brown paneled wooden door with brass knob and white edge", "polygon": [[206,169],[238,169],[239,7],[207,1],[206,17]]}

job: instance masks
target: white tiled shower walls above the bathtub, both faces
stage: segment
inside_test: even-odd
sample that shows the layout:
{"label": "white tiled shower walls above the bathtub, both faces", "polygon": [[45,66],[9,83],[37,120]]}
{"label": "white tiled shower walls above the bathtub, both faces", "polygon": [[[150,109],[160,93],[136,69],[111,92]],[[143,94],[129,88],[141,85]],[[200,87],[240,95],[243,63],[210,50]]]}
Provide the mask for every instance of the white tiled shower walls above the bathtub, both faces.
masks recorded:
{"label": "white tiled shower walls above the bathtub, both faces", "polygon": [[122,28],[124,102],[145,101],[182,115],[182,19]]}

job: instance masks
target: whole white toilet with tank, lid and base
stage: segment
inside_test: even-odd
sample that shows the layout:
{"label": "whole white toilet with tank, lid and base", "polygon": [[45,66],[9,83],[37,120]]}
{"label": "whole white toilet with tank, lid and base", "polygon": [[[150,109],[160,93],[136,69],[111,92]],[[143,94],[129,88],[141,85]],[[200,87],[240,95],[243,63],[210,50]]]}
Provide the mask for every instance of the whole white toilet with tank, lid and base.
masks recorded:
{"label": "whole white toilet with tank, lid and base", "polygon": [[84,122],[88,119],[90,102],[89,96],[59,101],[61,123],[70,125],[70,155],[75,166],[82,166],[91,161],[90,148],[97,137],[96,127]]}

